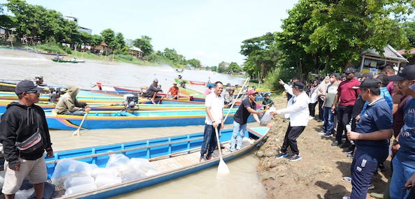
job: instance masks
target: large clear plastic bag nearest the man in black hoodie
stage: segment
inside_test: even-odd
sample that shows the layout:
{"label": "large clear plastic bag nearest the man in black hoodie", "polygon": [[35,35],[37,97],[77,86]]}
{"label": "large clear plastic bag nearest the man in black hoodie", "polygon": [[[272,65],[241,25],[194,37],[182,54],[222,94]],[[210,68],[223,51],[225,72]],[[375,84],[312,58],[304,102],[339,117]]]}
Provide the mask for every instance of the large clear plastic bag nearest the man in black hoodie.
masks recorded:
{"label": "large clear plastic bag nearest the man in black hoodie", "polygon": [[62,159],[57,163],[52,174],[53,184],[64,184],[68,177],[91,176],[91,165],[82,161]]}

